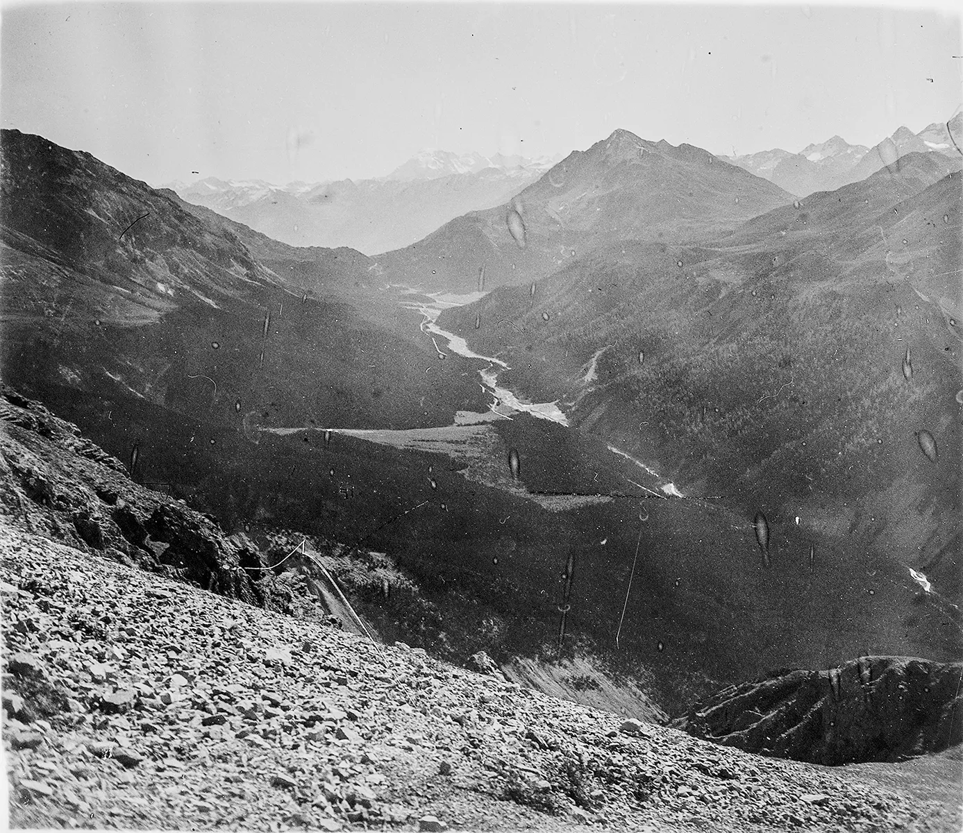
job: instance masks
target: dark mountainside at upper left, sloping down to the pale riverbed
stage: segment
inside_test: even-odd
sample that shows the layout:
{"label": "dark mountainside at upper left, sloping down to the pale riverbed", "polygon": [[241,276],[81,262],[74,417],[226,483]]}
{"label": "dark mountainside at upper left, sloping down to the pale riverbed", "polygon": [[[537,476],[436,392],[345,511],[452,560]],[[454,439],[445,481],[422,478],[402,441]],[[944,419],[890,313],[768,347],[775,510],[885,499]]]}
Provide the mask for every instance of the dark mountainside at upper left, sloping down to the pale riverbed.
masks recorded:
{"label": "dark mountainside at upper left, sloping down to the pale riverbed", "polygon": [[258,236],[255,259],[228,221],[89,154],[16,131],[0,150],[4,376],[117,456],[139,443],[143,477],[195,482],[222,437],[259,425],[410,427],[477,403],[473,381],[425,374],[450,370],[424,340],[343,299],[363,292],[363,255],[311,250],[305,267]]}

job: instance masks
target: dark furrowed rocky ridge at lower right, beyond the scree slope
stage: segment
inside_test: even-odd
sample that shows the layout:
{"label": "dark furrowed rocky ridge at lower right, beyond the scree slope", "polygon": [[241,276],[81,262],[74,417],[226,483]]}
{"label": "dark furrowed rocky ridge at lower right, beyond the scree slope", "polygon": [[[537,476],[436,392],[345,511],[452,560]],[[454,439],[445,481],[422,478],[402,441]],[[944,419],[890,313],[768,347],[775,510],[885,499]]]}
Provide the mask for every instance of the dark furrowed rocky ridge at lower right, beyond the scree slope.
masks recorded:
{"label": "dark furrowed rocky ridge at lower right, beyond the scree slope", "polygon": [[963,663],[861,657],[730,686],[675,721],[697,738],[815,764],[897,761],[963,741]]}

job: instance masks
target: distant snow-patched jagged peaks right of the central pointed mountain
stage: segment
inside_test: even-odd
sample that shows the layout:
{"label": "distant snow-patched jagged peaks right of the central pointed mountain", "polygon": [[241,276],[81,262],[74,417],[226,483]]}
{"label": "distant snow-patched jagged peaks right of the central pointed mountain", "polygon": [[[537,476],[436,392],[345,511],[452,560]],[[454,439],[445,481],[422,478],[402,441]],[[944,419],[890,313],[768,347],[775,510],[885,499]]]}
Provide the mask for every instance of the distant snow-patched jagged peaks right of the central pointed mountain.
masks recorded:
{"label": "distant snow-patched jagged peaks right of the central pointed mountain", "polygon": [[790,194],[808,196],[818,191],[835,191],[865,179],[888,164],[888,159],[927,151],[959,156],[958,146],[963,147],[963,113],[959,111],[950,121],[934,121],[919,133],[899,127],[872,148],[849,144],[841,136],[834,136],[822,143],[807,144],[798,153],[775,147],[719,158],[768,179]]}

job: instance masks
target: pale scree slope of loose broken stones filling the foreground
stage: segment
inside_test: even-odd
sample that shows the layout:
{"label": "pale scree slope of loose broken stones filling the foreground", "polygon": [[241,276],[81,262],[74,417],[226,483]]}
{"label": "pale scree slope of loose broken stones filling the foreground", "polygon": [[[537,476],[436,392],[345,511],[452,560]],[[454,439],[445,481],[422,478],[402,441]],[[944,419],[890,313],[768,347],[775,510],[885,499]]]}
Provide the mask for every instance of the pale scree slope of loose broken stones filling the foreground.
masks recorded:
{"label": "pale scree slope of loose broken stones filling the foreground", "polygon": [[0,579],[13,827],[960,829],[948,756],[829,769],[623,726],[4,519]]}

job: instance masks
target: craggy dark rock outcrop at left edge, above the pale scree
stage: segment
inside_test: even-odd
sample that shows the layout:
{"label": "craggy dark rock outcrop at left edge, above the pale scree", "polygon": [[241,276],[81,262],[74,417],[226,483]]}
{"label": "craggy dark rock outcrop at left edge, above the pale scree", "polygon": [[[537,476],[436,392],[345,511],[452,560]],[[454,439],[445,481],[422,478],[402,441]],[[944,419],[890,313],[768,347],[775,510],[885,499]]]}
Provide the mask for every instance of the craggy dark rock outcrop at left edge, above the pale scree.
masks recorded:
{"label": "craggy dark rock outcrop at left edge, above the pale scree", "polygon": [[284,607],[260,553],[212,518],[131,482],[123,463],[75,425],[2,382],[0,514],[81,550],[249,604]]}

